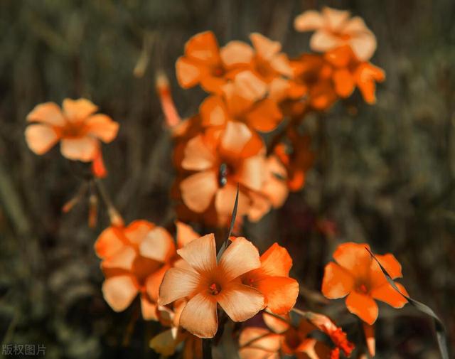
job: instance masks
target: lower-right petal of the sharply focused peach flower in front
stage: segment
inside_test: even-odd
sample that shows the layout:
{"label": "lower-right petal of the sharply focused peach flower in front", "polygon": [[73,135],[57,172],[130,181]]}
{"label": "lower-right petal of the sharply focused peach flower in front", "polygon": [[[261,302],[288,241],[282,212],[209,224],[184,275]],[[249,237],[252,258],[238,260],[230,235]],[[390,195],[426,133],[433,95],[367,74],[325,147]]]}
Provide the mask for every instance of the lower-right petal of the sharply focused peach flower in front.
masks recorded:
{"label": "lower-right petal of the sharply focused peach flower in front", "polygon": [[216,297],[232,321],[246,321],[264,307],[264,296],[251,286],[231,282]]}

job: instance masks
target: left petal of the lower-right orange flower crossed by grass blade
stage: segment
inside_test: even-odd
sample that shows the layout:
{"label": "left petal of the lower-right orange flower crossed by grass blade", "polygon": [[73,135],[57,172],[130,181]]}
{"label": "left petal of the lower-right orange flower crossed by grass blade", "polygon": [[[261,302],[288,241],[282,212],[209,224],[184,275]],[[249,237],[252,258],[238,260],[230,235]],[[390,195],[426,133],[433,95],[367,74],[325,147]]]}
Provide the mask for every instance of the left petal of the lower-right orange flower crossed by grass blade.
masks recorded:
{"label": "left petal of the lower-right orange flower crossed by grass blade", "polygon": [[346,269],[330,262],[324,269],[322,294],[329,299],[343,298],[353,289],[354,278]]}

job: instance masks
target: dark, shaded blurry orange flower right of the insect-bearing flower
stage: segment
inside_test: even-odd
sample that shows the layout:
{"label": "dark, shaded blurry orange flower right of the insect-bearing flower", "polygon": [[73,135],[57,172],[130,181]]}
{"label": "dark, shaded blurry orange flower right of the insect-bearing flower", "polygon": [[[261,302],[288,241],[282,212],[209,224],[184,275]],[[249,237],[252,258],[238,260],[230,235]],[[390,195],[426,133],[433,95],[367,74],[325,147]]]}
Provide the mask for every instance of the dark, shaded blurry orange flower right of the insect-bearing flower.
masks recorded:
{"label": "dark, shaded blurry orange flower right of the insect-bearing flower", "polygon": [[275,146],[274,154],[287,169],[289,191],[299,191],[305,184],[306,172],[314,163],[311,138],[291,128],[287,131],[287,140]]}

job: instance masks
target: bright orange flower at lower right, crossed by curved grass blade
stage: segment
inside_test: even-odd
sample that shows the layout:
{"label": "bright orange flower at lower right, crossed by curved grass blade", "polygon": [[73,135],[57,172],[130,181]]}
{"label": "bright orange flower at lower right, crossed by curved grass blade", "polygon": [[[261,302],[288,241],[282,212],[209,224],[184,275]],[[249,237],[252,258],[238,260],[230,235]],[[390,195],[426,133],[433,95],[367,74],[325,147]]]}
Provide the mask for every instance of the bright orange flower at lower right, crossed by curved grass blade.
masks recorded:
{"label": "bright orange flower at lower right, crossed by curved grass blade", "polygon": [[[336,262],[326,265],[322,293],[328,299],[346,297],[348,311],[368,324],[378,318],[378,304],[374,299],[384,301],[395,308],[402,308],[407,303],[400,294],[387,282],[375,260],[365,250],[367,244],[353,242],[343,243],[333,253]],[[402,277],[401,265],[392,254],[377,255],[380,263],[392,279]],[[403,294],[406,289],[399,283],[397,286]]]}

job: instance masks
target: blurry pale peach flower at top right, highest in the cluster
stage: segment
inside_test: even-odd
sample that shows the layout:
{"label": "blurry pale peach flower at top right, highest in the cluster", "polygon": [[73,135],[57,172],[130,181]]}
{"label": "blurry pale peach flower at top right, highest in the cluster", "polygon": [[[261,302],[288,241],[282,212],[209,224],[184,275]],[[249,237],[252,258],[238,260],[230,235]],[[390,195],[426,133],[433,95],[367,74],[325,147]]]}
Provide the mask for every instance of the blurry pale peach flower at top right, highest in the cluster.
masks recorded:
{"label": "blurry pale peach flower at top right, highest in the cluster", "polygon": [[324,7],[309,10],[296,17],[297,31],[316,31],[311,36],[310,47],[321,53],[342,45],[349,45],[363,61],[370,60],[376,50],[376,38],[359,16],[350,18],[349,11]]}

